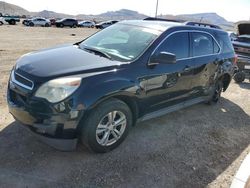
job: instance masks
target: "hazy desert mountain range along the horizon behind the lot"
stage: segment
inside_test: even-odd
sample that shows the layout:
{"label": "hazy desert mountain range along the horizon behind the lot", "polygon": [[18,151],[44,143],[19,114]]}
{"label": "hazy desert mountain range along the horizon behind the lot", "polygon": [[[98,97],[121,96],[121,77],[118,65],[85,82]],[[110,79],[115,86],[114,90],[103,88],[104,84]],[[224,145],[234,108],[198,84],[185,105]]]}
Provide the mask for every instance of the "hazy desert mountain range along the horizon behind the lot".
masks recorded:
{"label": "hazy desert mountain range along the horizon behind the lot", "polygon": [[[121,9],[118,11],[108,11],[106,13],[97,14],[97,15],[69,15],[63,13],[57,13],[53,11],[43,10],[41,12],[29,12],[22,7],[9,4],[3,1],[0,1],[0,12],[3,14],[11,14],[11,15],[31,15],[31,16],[38,16],[38,17],[45,17],[45,18],[77,18],[80,20],[96,20],[96,21],[103,21],[103,20],[131,20],[131,19],[144,19],[148,17],[147,15],[141,14],[139,12],[128,10],[128,9]],[[178,19],[183,21],[202,21],[208,22],[216,25],[220,25],[223,27],[231,27],[233,24],[228,22],[223,17],[219,16],[216,13],[200,13],[200,14],[183,14],[183,15],[160,15],[161,18],[168,18],[168,19]]]}

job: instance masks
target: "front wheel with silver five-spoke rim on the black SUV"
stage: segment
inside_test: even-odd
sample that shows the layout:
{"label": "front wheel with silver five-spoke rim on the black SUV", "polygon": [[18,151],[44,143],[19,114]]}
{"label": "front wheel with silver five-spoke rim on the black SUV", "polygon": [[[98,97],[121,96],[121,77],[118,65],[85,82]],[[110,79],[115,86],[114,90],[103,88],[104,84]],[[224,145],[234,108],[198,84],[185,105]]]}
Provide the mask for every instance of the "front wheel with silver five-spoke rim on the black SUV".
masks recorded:
{"label": "front wheel with silver five-spoke rim on the black SUV", "polygon": [[81,141],[90,150],[105,153],[118,147],[132,126],[129,107],[118,99],[107,100],[82,121]]}

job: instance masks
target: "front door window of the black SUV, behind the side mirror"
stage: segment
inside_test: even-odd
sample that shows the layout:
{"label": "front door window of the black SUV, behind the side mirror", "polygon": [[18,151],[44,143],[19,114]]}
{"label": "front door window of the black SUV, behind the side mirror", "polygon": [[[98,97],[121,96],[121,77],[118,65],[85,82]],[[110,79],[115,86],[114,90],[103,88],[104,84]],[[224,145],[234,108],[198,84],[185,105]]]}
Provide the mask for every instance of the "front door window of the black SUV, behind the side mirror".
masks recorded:
{"label": "front door window of the black SUV, behind the side mirror", "polygon": [[176,59],[189,57],[189,37],[187,32],[175,33],[168,37],[158,48],[157,52],[170,52]]}

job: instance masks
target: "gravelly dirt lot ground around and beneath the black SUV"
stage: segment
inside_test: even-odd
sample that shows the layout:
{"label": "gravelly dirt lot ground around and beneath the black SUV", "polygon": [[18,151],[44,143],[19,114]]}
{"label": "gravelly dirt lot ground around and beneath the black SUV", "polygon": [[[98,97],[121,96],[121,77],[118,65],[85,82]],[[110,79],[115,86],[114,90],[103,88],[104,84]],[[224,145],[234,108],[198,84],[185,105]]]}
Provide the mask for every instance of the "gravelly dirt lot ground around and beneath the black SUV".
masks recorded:
{"label": "gravelly dirt lot ground around and beneath the black SUV", "polygon": [[249,82],[232,83],[217,105],[140,123],[107,154],[56,151],[13,121],[5,97],[18,57],[95,31],[0,27],[0,187],[229,187],[250,151]]}

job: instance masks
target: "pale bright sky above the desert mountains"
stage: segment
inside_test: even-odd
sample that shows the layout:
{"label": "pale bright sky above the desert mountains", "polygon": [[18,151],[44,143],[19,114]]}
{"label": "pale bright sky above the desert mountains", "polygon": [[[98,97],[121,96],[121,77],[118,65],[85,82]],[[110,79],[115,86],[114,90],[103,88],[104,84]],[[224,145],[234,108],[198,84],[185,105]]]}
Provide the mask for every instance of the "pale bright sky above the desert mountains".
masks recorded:
{"label": "pale bright sky above the desert mountains", "polygon": [[[5,0],[29,11],[52,10],[67,14],[99,14],[131,9],[154,16],[157,0]],[[159,0],[159,14],[216,12],[229,21],[250,19],[250,0]]]}

